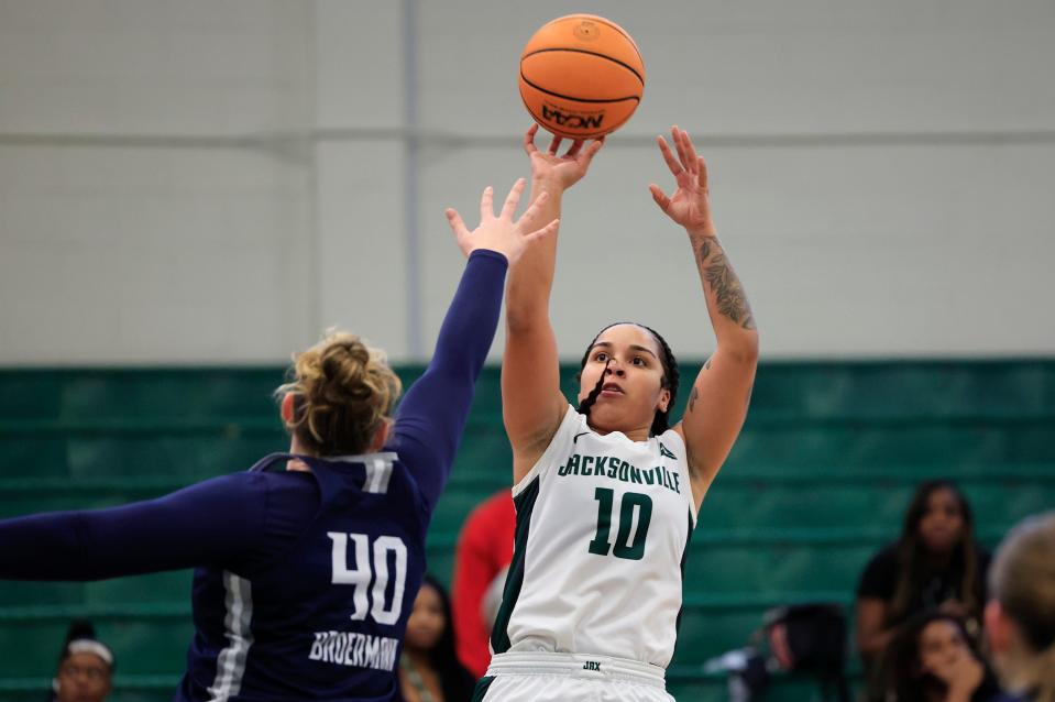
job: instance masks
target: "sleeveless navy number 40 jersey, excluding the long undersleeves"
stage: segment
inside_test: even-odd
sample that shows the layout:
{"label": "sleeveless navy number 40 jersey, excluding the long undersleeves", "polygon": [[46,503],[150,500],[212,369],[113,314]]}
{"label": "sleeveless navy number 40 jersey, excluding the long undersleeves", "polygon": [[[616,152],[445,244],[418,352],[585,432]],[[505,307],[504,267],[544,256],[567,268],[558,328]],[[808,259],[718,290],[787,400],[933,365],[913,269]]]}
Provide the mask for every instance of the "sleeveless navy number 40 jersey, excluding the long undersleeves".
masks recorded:
{"label": "sleeveless navy number 40 jersey, excluding the long undersleeves", "polygon": [[[267,457],[253,471],[288,458]],[[316,514],[296,540],[250,562],[195,571],[196,633],[177,700],[395,693],[430,508],[395,453],[303,460],[310,473],[263,475],[265,484],[290,483],[277,489],[285,495],[318,491]]]}

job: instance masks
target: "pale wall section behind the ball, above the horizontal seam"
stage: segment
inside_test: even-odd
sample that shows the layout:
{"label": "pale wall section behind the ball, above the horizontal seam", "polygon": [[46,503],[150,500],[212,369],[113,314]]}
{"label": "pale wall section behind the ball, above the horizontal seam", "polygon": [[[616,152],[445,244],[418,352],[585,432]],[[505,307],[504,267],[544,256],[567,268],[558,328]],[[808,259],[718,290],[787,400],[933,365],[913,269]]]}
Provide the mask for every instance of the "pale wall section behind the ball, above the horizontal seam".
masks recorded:
{"label": "pale wall section behind the ball, above the horizontal seam", "polygon": [[[525,120],[517,62],[567,3],[422,4],[429,125],[504,134]],[[648,80],[626,133],[1051,129],[1055,3],[583,2],[623,24]]]}

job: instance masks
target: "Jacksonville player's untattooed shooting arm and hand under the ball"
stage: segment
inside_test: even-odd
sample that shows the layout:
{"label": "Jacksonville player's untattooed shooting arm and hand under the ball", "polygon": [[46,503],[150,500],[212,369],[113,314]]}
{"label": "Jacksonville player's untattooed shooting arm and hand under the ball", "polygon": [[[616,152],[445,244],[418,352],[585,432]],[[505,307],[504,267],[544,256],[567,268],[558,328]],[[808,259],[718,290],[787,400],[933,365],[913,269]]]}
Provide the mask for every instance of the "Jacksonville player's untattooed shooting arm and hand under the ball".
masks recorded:
{"label": "Jacksonville player's untattooed shooting arm and hand under the ball", "polygon": [[[564,190],[578,183],[601,151],[604,139],[572,142],[559,155],[554,136],[545,151],[535,145],[538,124],[524,135],[531,164],[531,201],[535,217],[547,222],[560,217]],[[542,198],[546,198],[545,200]],[[560,392],[557,340],[549,320],[549,298],[557,266],[557,238],[528,251],[509,270],[506,293],[506,347],[502,360],[502,414],[513,445],[514,482],[541,456],[568,406]]]}

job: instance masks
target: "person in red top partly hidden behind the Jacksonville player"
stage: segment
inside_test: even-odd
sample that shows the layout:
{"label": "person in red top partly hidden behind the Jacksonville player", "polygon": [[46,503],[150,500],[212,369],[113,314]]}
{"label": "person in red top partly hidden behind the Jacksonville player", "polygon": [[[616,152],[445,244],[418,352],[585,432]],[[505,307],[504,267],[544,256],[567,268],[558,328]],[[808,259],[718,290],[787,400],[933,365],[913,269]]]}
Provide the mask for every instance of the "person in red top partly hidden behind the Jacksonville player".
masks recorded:
{"label": "person in red top partly hidden behind the Jacksonville player", "polygon": [[488,644],[497,610],[493,601],[495,595],[499,602],[502,599],[502,583],[513,560],[515,531],[513,495],[502,490],[473,509],[458,537],[454,634],[458,657],[476,678],[482,677],[491,663]]}

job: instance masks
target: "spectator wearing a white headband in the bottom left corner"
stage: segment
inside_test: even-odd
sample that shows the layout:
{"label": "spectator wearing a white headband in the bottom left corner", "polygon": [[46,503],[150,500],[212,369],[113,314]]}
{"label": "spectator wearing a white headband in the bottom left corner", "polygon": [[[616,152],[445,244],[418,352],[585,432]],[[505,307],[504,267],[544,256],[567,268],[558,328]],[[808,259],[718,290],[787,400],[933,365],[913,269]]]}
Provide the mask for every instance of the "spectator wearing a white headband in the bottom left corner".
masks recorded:
{"label": "spectator wearing a white headband in the bottom left corner", "polygon": [[113,689],[113,652],[89,622],[69,625],[52,689],[57,702],[102,702]]}

